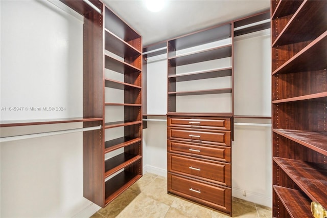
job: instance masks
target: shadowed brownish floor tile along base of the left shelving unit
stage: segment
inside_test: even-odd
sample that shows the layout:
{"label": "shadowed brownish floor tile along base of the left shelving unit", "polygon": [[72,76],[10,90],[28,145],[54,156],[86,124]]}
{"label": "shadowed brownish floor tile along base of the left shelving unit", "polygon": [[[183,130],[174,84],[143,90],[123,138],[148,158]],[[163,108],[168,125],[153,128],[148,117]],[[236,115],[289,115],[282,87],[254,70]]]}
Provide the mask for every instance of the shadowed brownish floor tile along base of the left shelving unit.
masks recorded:
{"label": "shadowed brownish floor tile along base of the left shelving unit", "polygon": [[110,202],[105,208],[101,208],[98,212],[105,217],[110,217],[110,218],[116,217],[136,197],[137,197],[137,193],[127,189],[121,195],[119,195],[115,200]]}

